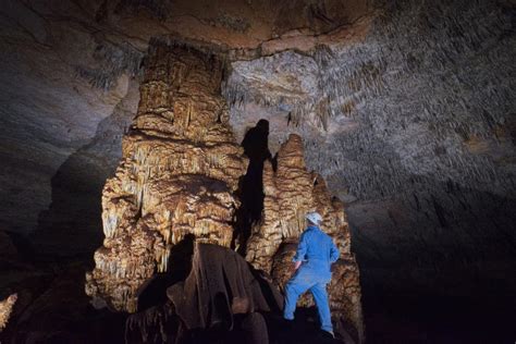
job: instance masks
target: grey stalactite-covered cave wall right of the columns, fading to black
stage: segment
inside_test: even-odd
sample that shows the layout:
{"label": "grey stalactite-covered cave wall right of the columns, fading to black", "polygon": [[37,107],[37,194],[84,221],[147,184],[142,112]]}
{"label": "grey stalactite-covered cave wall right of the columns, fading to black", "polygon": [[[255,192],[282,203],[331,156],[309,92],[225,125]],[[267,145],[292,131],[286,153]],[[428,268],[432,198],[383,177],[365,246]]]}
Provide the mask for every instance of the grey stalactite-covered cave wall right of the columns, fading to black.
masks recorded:
{"label": "grey stalactite-covered cave wall right of the columns, fading to black", "polygon": [[[290,133],[304,137],[308,168],[347,204],[366,312],[400,320],[429,309],[420,333],[439,342],[481,325],[465,300],[481,299],[500,315],[491,332],[506,332],[516,309],[506,303],[516,290],[514,4],[380,9],[363,40],[233,62],[232,125],[243,137],[269,120],[273,150]],[[464,324],[433,331],[443,309]]]}

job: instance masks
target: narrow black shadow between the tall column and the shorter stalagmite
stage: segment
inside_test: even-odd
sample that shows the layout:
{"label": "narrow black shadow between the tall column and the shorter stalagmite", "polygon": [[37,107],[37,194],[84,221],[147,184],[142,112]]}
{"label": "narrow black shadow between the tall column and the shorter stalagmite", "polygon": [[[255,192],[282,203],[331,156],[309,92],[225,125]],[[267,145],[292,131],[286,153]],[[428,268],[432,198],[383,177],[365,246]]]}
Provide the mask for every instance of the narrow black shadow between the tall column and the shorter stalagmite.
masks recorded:
{"label": "narrow black shadow between the tall column and the shorter stalagmite", "polygon": [[271,159],[269,151],[269,121],[259,120],[247,131],[242,140],[244,153],[249,158],[246,174],[242,177],[237,197],[242,205],[236,211],[236,229],[233,247],[238,243],[238,253],[244,254],[253,224],[260,220],[263,210],[263,162]]}

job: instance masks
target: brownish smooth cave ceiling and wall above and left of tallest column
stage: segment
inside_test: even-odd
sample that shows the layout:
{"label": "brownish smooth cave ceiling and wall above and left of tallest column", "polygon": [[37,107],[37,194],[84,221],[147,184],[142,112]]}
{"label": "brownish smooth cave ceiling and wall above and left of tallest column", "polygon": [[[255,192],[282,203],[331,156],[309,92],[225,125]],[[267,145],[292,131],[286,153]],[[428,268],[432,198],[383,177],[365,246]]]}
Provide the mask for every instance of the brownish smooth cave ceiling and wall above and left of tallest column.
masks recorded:
{"label": "brownish smooth cave ceiling and wall above and left of tallest column", "polygon": [[[305,46],[315,35],[337,39],[368,11],[363,1],[334,0],[2,1],[0,123],[10,130],[0,136],[0,224],[46,231],[37,238],[45,253],[89,253],[99,244],[100,207],[89,205],[120,159],[138,102],[130,90],[138,88],[132,84],[152,37],[253,58]],[[70,238],[45,243],[52,235],[82,238],[69,247]]]}

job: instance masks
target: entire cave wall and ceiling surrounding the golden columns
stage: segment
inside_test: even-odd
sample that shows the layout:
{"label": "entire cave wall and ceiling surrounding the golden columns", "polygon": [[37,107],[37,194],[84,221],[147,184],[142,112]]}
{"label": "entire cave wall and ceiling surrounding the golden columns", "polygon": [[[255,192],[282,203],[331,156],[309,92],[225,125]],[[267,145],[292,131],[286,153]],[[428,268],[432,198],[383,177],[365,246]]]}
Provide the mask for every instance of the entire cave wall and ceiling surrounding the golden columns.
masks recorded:
{"label": "entire cave wall and ceiling surrounding the golden columns", "polygon": [[300,134],[346,202],[371,341],[513,340],[514,1],[365,4],[1,1],[1,229],[90,257],[134,76],[149,38],[172,33],[234,48],[237,138],[259,119],[273,152]]}

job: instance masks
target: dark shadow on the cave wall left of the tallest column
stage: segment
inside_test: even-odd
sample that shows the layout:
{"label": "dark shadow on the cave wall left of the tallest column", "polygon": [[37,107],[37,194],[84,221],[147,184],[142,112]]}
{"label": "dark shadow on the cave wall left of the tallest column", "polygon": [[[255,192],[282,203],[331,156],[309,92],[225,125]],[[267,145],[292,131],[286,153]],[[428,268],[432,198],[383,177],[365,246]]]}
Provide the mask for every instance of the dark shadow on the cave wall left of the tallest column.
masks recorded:
{"label": "dark shadow on the cave wall left of the tallest column", "polygon": [[38,255],[90,259],[101,245],[102,187],[119,163],[131,120],[131,113],[116,107],[99,123],[95,137],[58,169],[51,179],[51,204],[39,213],[30,237]]}

